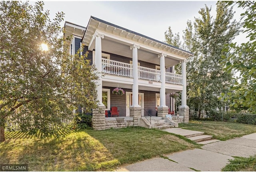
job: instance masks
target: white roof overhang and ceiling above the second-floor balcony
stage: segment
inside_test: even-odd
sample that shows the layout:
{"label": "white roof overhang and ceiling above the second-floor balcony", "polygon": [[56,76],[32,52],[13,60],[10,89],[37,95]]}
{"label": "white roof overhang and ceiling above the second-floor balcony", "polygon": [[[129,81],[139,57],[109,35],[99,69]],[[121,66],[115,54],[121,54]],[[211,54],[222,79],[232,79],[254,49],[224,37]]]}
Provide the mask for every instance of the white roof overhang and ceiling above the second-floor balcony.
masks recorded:
{"label": "white roof overhang and ceiling above the second-floor balcony", "polygon": [[149,38],[92,16],[87,25],[84,37],[82,38],[82,42],[86,46],[89,46],[89,50],[95,48],[95,40],[93,40],[92,37],[95,32],[104,34],[104,39],[102,39],[102,50],[105,52],[132,58],[130,46],[132,44],[138,44],[140,45],[138,59],[158,65],[160,59],[158,59],[157,55],[166,53],[166,68],[178,64],[179,61],[193,55],[180,48],[176,48],[164,42],[154,40],[153,38]]}

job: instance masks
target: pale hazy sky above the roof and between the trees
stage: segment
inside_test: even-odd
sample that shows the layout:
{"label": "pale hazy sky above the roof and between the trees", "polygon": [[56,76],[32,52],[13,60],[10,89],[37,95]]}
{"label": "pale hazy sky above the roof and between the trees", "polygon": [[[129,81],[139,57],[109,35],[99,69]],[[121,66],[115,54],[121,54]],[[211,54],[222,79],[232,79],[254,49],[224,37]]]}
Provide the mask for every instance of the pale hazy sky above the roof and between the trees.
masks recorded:
{"label": "pale hazy sky above the roof and between the trees", "polygon": [[[33,2],[30,2],[33,3]],[[186,28],[187,20],[199,17],[198,11],[205,4],[212,6],[211,14],[216,16],[216,1],[44,1],[45,10],[51,18],[58,11],[65,13],[65,21],[87,26],[90,16],[112,24],[164,41],[164,32],[171,26],[173,33]],[[235,18],[240,20],[241,9],[234,8]],[[64,26],[64,22],[62,24]],[[244,42],[240,35],[235,42]]]}

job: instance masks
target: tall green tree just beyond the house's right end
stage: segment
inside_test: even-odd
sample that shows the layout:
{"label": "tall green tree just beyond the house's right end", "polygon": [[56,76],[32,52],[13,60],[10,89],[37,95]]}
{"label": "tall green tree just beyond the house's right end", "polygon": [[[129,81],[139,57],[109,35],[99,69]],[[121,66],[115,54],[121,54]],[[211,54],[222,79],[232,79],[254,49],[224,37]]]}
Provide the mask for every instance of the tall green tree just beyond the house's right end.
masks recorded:
{"label": "tall green tree just beyond the house's right end", "polygon": [[[225,72],[220,64],[221,51],[238,35],[240,28],[233,20],[232,8],[224,2],[217,2],[216,6],[215,18],[210,15],[211,8],[201,8],[200,17],[195,18],[194,23],[187,22],[182,36],[183,48],[194,53],[187,62],[188,106],[197,109],[199,117],[202,110],[210,112],[223,106],[218,96],[227,92],[232,74]],[[175,40],[173,34],[172,38]]]}

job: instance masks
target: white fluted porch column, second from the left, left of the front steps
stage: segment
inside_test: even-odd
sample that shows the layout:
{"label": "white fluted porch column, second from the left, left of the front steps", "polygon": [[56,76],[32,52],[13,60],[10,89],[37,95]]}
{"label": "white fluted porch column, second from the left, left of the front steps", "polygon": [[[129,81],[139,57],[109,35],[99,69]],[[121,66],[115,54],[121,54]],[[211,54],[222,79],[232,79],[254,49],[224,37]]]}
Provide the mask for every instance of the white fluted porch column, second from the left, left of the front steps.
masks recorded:
{"label": "white fluted porch column, second from the left, left of the front steps", "polygon": [[138,86],[138,49],[139,45],[133,44],[130,46],[132,50],[132,74],[133,74],[133,85],[132,85],[132,106],[140,107],[139,105],[139,86]]}

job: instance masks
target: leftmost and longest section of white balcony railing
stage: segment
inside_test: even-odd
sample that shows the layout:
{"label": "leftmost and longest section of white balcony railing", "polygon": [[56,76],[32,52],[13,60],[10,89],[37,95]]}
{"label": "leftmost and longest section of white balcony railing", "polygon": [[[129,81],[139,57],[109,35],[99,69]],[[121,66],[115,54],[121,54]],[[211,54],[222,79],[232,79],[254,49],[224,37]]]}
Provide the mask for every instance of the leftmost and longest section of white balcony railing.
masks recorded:
{"label": "leftmost and longest section of white balcony railing", "polygon": [[102,72],[107,74],[132,77],[132,64],[103,58]]}

